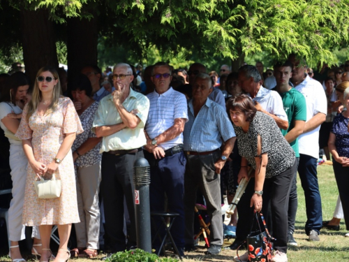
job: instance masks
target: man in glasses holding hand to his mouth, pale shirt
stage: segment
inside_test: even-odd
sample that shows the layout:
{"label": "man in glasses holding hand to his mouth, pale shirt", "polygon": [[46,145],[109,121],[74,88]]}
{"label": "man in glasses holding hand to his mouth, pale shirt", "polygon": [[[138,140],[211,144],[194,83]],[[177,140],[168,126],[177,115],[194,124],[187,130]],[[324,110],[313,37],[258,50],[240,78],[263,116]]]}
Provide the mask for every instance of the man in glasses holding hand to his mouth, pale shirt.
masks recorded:
{"label": "man in glasses holding hand to his mouth, pale shirt", "polygon": [[103,137],[100,153],[103,153],[101,191],[105,232],[115,253],[126,249],[124,198],[131,219],[127,249],[136,245],[133,162],[144,156],[142,146],[147,144],[144,125],[149,99],[131,89],[133,74],[128,64],[114,66],[112,79],[115,90],[99,102],[92,131],[98,138]]}

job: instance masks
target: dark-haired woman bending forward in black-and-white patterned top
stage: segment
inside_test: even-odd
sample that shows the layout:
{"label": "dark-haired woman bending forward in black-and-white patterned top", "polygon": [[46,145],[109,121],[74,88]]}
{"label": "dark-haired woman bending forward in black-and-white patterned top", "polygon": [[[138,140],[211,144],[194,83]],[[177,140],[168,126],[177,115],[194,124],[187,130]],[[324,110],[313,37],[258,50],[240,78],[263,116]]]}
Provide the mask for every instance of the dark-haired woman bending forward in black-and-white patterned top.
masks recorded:
{"label": "dark-haired woman bending forward in black-and-white patterned top", "polygon": [[[296,170],[295,152],[285,140],[272,117],[257,112],[253,101],[242,94],[227,102],[227,110],[237,134],[237,146],[242,156],[238,182],[247,177],[247,166],[255,170],[251,207],[267,212],[271,203],[276,253],[272,261],[287,262],[288,217],[286,206],[290,184]],[[250,181],[250,183],[253,180]],[[264,200],[264,201],[263,201]],[[240,256],[248,260],[248,254]],[[238,261],[238,260],[237,260]]]}

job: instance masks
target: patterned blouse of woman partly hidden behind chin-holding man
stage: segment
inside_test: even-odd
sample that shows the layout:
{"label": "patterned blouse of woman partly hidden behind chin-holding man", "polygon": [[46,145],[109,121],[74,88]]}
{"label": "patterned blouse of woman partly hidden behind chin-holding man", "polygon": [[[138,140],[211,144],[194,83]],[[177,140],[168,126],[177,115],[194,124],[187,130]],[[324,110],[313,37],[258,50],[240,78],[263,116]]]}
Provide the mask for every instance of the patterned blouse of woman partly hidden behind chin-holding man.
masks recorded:
{"label": "patterned blouse of woman partly hidden behind chin-holding man", "polygon": [[[94,103],[92,103],[89,108],[84,110],[84,112],[82,112],[80,115],[80,121],[82,128],[84,129],[84,133],[80,133],[80,135],[76,136],[73,146],[71,147],[73,152],[77,150],[77,148],[79,148],[88,138],[96,138],[96,134],[91,131],[91,127],[92,123],[94,122],[94,115],[96,115],[97,108],[98,102],[94,101]],[[92,166],[95,163],[98,163],[98,161],[101,161],[102,159],[102,154],[99,154],[99,150],[101,150],[101,142],[98,143],[96,147],[89,150],[89,152],[77,157],[75,166],[86,168],[87,166]]]}

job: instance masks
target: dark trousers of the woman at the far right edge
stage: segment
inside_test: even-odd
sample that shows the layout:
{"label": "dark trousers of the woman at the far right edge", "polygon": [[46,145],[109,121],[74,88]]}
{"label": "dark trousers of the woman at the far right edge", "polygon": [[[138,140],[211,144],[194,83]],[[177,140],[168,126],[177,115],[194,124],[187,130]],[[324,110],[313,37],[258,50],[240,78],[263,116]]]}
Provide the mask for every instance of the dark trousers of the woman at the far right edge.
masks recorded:
{"label": "dark trousers of the woman at the far right edge", "polygon": [[344,220],[347,231],[349,230],[349,167],[343,167],[340,163],[333,161],[334,176],[336,177],[339,196],[341,197]]}

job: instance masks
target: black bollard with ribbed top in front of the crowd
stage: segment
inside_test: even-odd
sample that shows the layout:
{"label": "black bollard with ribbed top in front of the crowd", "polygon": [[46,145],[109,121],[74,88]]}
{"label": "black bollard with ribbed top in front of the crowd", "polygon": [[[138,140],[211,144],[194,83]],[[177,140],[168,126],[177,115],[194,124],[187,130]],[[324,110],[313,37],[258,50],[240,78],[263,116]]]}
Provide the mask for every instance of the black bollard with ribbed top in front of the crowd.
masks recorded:
{"label": "black bollard with ribbed top in front of the crowd", "polygon": [[133,183],[135,184],[135,224],[137,247],[151,253],[151,228],[149,184],[150,166],[147,159],[139,158],[133,163]]}

